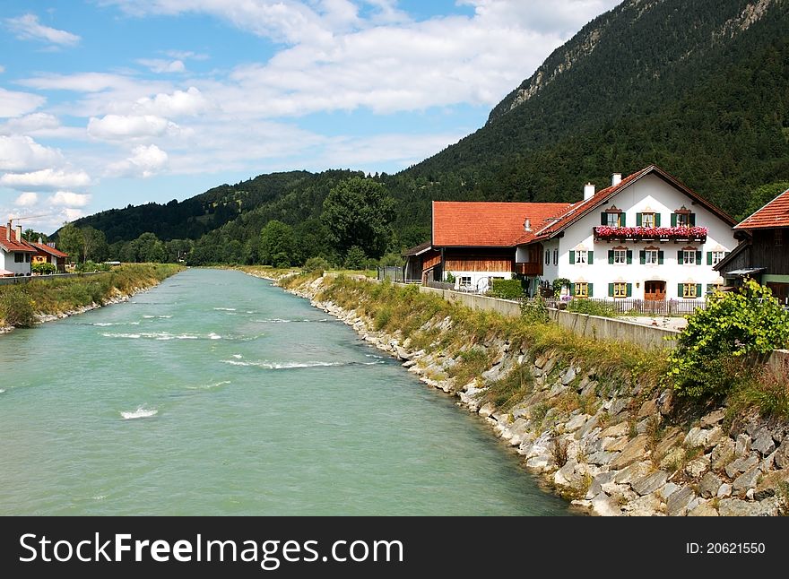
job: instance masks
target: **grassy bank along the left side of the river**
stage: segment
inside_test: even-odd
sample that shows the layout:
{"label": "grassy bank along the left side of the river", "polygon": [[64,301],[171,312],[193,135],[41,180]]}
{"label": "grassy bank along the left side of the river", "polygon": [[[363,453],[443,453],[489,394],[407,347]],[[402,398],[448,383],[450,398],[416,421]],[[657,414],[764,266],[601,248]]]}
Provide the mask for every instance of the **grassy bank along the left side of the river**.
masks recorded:
{"label": "grassy bank along the left side of the river", "polygon": [[175,264],[124,264],[96,275],[0,286],[0,325],[30,327],[37,315],[105,304],[143,290],[183,270]]}

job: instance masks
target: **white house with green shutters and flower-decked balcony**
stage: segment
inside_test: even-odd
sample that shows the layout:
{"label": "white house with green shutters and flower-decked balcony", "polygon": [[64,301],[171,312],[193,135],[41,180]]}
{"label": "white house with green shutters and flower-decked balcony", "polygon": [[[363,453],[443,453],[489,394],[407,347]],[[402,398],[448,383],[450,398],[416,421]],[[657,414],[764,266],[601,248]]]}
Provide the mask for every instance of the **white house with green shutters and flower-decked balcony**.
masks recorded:
{"label": "white house with green shutters and flower-decked balcony", "polygon": [[[572,295],[696,299],[723,284],[713,266],[737,241],[734,220],[650,166],[547,220],[516,248],[516,264],[542,260],[540,281],[571,282]],[[538,256],[539,255],[539,256]]]}

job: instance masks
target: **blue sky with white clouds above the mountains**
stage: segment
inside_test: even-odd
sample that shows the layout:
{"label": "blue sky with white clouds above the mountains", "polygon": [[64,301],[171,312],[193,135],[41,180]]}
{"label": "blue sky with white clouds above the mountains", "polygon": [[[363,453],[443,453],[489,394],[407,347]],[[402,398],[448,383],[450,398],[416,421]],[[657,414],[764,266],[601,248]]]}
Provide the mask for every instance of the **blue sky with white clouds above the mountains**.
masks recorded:
{"label": "blue sky with white clouds above the mountains", "polygon": [[456,143],[615,0],[4,0],[0,219]]}

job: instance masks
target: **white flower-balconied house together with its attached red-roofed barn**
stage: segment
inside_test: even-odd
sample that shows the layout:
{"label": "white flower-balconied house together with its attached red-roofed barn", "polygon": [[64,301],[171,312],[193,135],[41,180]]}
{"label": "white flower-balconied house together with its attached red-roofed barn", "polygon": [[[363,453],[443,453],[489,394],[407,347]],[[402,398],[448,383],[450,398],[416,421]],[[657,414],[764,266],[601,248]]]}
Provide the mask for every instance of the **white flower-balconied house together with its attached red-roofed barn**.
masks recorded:
{"label": "white flower-balconied house together with its attached red-roofed barn", "polygon": [[433,203],[443,279],[486,290],[516,276],[533,294],[569,281],[577,298],[698,299],[736,241],[734,220],[654,165],[577,203]]}

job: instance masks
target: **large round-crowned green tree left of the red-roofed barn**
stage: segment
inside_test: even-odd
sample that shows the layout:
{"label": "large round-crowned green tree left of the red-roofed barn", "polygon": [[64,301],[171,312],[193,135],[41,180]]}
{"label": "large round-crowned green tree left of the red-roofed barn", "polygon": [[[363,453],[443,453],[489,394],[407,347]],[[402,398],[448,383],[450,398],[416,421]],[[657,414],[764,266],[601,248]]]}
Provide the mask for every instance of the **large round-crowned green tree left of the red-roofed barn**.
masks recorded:
{"label": "large round-crowned green tree left of the red-roofed barn", "polygon": [[322,215],[340,252],[359,246],[375,258],[386,253],[394,218],[395,201],[386,187],[362,177],[351,177],[334,186],[325,198]]}

